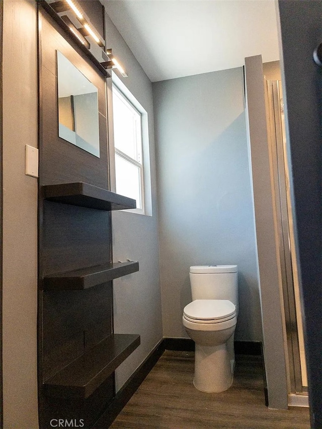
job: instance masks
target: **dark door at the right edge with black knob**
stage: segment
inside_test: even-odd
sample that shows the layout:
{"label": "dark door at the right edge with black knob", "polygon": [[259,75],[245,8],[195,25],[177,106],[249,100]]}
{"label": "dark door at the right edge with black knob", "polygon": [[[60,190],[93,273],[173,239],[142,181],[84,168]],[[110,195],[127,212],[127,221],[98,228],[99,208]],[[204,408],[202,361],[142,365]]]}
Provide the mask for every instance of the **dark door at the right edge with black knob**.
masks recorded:
{"label": "dark door at the right edge with black knob", "polygon": [[322,42],[322,1],[278,3],[311,428],[319,429],[322,427],[322,78],[321,68],[312,56]]}

